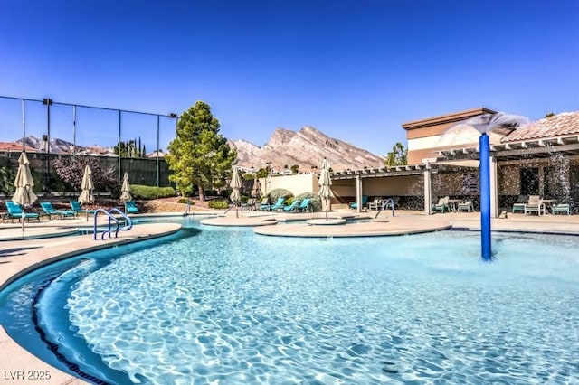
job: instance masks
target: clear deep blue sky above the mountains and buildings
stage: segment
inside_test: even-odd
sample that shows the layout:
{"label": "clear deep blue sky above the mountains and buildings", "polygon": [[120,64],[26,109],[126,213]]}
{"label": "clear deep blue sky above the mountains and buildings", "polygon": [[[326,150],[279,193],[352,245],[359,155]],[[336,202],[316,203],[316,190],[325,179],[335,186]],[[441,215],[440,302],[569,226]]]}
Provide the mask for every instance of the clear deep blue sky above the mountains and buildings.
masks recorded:
{"label": "clear deep blue sky above the mountains and buildings", "polygon": [[0,57],[3,96],[204,100],[230,139],[308,125],[384,155],[423,117],[578,110],[579,1],[0,0]]}

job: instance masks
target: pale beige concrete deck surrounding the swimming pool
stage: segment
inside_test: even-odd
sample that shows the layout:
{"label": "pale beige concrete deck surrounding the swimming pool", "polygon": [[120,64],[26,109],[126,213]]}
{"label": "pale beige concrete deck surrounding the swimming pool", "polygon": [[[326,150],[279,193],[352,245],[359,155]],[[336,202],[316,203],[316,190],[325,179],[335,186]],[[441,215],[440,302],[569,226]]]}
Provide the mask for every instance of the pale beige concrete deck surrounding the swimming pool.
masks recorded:
{"label": "pale beige concrete deck surrounding the swimming pool", "polygon": [[[208,213],[201,213],[206,215]],[[378,221],[371,221],[375,211],[356,213],[349,210],[328,213],[333,219],[357,219],[346,224],[331,226],[308,225],[308,219],[321,220],[325,213],[273,213],[259,211],[211,212],[219,216],[205,219],[202,223],[214,226],[252,226],[256,233],[276,236],[299,237],[351,237],[392,236],[424,231],[462,229],[479,230],[480,214],[445,213],[431,216],[421,211],[395,211],[394,217],[381,213]],[[156,214],[157,217],[176,216],[178,213]],[[147,215],[143,215],[146,216]],[[138,218],[135,216],[134,218]],[[92,234],[77,235],[79,228],[90,227],[85,218],[30,222],[25,224],[24,239],[19,223],[0,224],[0,287],[26,271],[43,266],[51,261],[68,258],[80,252],[108,248],[114,245],[150,239],[174,233],[180,225],[167,222],[144,223],[132,230],[119,232],[118,239],[93,240]],[[579,215],[525,216],[510,214],[507,219],[493,219],[492,230],[526,231],[579,236]],[[74,235],[71,235],[74,234]],[[26,383],[33,373],[49,373],[51,384],[81,384],[83,380],[53,368],[27,352],[14,342],[4,328],[0,327],[0,384]],[[21,376],[24,376],[24,380]],[[37,380],[41,381],[41,380]]]}

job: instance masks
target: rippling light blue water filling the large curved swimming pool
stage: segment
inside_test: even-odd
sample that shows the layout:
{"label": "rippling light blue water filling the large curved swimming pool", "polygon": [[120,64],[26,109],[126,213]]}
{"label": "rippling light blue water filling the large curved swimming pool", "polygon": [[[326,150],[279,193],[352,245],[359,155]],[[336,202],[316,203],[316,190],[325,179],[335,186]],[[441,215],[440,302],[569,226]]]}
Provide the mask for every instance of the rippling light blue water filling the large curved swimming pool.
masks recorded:
{"label": "rippling light blue water filling the large curved swimming pool", "polygon": [[472,232],[296,239],[185,225],[21,279],[0,296],[0,321],[95,382],[579,381],[579,238],[496,234],[484,263]]}

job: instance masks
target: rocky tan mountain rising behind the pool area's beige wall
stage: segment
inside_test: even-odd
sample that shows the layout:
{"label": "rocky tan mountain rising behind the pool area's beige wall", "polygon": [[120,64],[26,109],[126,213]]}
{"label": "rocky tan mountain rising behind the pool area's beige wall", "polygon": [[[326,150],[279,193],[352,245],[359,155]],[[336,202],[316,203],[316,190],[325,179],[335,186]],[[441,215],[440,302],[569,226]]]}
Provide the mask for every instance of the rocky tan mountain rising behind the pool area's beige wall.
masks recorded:
{"label": "rocky tan mountain rising behind the pool area's beige wall", "polygon": [[270,163],[271,168],[280,171],[298,164],[300,171],[310,171],[319,167],[324,157],[334,171],[384,165],[384,157],[327,136],[314,127],[303,127],[298,132],[277,128],[263,147],[245,140],[229,143],[237,149],[237,164],[247,168],[260,169]]}

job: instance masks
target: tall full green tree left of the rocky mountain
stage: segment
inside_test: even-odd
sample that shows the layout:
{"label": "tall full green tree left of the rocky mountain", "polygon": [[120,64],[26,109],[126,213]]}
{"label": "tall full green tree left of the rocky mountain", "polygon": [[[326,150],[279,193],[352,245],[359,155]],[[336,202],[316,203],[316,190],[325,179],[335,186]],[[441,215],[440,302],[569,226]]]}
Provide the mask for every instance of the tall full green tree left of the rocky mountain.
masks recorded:
{"label": "tall full green tree left of the rocky mountain", "polygon": [[237,152],[230,148],[219,128],[219,121],[203,101],[197,101],[179,118],[176,138],[169,143],[165,159],[173,171],[169,180],[182,194],[193,192],[197,186],[199,199],[204,201],[205,189],[222,184],[230,174]]}

